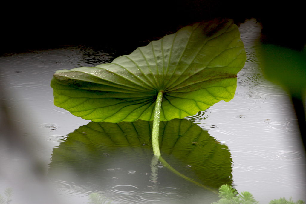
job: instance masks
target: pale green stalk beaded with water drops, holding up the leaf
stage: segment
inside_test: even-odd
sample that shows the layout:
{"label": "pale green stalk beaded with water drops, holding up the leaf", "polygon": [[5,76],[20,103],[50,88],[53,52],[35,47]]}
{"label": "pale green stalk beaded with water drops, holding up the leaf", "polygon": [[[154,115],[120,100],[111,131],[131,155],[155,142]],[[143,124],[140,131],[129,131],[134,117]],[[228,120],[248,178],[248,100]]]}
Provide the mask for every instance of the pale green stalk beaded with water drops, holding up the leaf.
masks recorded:
{"label": "pale green stalk beaded with water drops, holding up the leaf", "polygon": [[159,91],[155,103],[153,129],[152,129],[152,147],[153,147],[153,153],[156,156],[160,156],[158,135],[159,135],[159,118],[160,118],[161,107],[162,107],[162,91]]}

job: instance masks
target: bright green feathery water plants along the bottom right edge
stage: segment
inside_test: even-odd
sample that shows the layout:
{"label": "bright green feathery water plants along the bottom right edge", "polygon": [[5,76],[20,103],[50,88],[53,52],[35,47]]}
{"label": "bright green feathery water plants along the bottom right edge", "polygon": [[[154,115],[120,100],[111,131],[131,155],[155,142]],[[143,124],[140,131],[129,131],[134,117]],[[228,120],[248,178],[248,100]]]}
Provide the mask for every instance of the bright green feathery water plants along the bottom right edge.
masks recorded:
{"label": "bright green feathery water plants along the bottom right edge", "polygon": [[[224,184],[219,188],[219,197],[220,200],[218,202],[213,202],[212,204],[258,204],[253,195],[244,191],[241,195],[238,195],[238,192],[233,189],[230,185]],[[275,200],[271,200],[269,204],[304,204],[305,202],[302,200],[298,200],[294,202],[290,197],[289,200],[286,198],[279,198]]]}

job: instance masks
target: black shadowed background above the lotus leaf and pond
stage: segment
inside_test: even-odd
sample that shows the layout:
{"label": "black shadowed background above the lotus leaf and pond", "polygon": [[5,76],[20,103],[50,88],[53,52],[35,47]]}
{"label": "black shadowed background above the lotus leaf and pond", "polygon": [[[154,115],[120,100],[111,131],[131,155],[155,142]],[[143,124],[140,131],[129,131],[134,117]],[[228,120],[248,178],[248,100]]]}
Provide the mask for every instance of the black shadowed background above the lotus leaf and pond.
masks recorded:
{"label": "black shadowed background above the lotus leaf and pond", "polygon": [[[297,50],[306,41],[302,5],[294,1],[178,0],[147,2],[8,3],[1,12],[0,55],[62,46],[145,46],[197,21],[252,17],[263,24],[263,41]],[[125,53],[122,53],[125,54]]]}

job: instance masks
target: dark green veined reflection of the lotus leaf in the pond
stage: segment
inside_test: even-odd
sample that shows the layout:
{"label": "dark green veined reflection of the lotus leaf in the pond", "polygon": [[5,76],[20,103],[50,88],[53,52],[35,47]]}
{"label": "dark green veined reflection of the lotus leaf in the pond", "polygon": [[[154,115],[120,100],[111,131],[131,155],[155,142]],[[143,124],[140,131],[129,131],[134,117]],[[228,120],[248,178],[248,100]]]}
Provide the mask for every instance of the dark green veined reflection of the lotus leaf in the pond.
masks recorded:
{"label": "dark green veined reflection of the lotus leaf in the pond", "polygon": [[[90,122],[70,133],[67,141],[54,149],[49,174],[62,166],[81,177],[97,176],[97,172],[105,177],[103,170],[115,169],[114,158],[108,157],[115,151],[116,155],[122,152],[126,161],[143,161],[149,167],[151,129],[152,121]],[[232,183],[232,159],[227,146],[191,121],[160,122],[159,145],[168,164],[197,182],[213,188]],[[143,166],[137,165],[137,170],[146,168]],[[67,171],[64,168],[62,173]]]}

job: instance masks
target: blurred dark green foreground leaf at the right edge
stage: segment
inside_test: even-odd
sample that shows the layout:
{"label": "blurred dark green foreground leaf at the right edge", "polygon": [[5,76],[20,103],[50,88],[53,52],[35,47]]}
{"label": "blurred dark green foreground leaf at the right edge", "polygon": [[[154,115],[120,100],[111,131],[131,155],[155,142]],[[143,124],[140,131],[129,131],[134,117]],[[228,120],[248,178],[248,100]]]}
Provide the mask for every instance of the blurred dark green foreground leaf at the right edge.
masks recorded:
{"label": "blurred dark green foreground leaf at the right edge", "polygon": [[282,85],[291,96],[305,148],[306,50],[297,51],[269,43],[261,43],[259,47],[259,59],[267,79]]}

